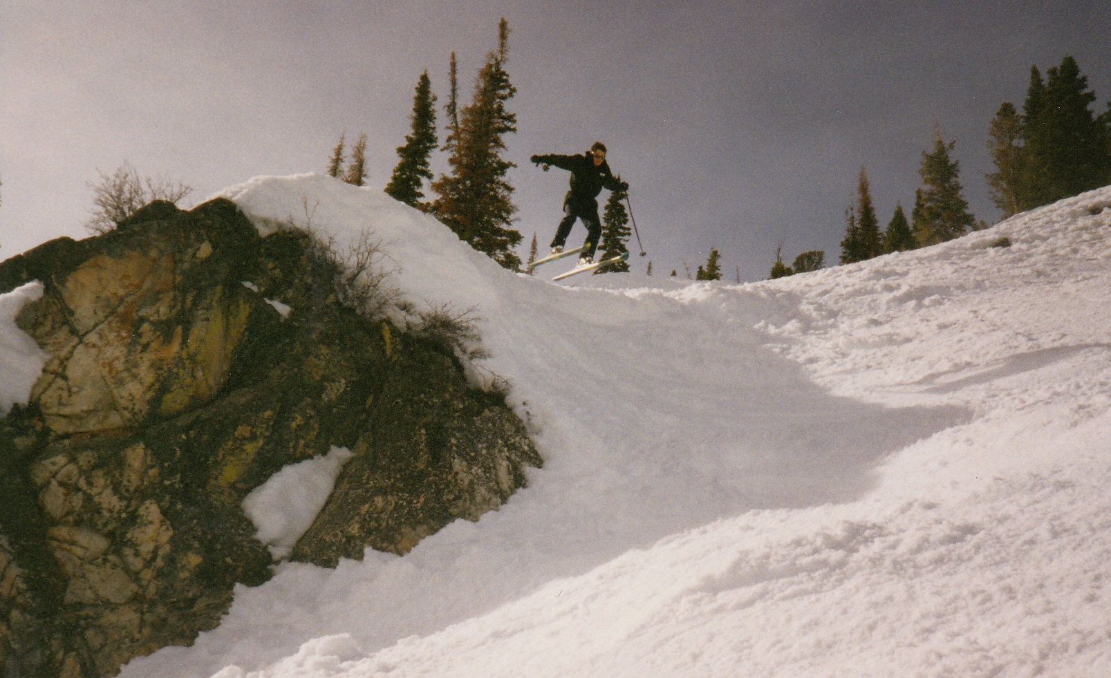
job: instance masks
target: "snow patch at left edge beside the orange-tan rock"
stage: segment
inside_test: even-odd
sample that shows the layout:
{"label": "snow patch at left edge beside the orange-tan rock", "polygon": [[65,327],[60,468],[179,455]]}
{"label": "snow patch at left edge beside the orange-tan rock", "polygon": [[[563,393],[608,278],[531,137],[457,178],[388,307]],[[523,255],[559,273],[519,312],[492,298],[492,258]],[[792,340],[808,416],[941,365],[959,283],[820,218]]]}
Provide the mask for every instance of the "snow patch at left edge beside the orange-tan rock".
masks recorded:
{"label": "snow patch at left edge beside the orange-tan rock", "polygon": [[42,283],[34,281],[0,295],[0,417],[16,403],[27,405],[49,357],[16,325],[23,305],[42,297]]}

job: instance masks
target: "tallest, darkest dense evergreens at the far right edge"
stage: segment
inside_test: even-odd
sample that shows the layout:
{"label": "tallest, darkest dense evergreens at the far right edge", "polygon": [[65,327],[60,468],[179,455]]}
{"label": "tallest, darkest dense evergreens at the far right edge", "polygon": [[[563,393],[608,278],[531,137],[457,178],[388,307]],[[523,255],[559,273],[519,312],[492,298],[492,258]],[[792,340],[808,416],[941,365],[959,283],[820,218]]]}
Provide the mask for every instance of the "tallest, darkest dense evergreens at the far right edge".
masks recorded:
{"label": "tallest, darkest dense evergreens at the far right edge", "polygon": [[1049,205],[1111,181],[1108,130],[1089,106],[1095,101],[1088,79],[1072,57],[1047,71],[1043,84],[1037,67],[1023,111],[1029,152],[1029,207]]}

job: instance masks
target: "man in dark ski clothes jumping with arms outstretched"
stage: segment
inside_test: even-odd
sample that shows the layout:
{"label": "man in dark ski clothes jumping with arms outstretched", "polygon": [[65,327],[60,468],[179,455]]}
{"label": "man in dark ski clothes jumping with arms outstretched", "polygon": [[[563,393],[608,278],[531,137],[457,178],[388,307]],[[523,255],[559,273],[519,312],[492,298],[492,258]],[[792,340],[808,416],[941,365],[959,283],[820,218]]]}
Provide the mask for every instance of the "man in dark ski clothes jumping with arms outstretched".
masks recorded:
{"label": "man in dark ski clothes jumping with arms outstretched", "polygon": [[552,253],[563,251],[574,220],[582,219],[583,226],[587,227],[587,241],[582,246],[579,265],[592,263],[602,235],[602,222],[598,218],[598,195],[603,188],[611,191],[619,188],[629,189],[628,183],[619,181],[610,171],[610,166],[605,162],[605,144],[595,141],[590,150],[581,156],[533,156],[530,160],[543,167],[546,172],[552,164],[571,172],[571,190],[563,198],[564,217],[556,229],[556,238],[551,245]]}

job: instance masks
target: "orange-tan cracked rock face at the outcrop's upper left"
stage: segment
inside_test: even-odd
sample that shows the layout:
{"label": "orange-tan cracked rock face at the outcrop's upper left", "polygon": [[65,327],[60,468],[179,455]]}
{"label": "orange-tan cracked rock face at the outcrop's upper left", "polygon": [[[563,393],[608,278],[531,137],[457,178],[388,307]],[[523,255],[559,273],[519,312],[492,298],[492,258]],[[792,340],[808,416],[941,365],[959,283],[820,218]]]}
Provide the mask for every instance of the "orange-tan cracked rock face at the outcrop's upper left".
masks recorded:
{"label": "orange-tan cracked rock face at the outcrop's upper left", "polygon": [[254,306],[241,253],[257,249],[258,232],[227,201],[152,216],[168,216],[166,206],[86,246],[71,270],[49,271],[21,319],[51,356],[31,399],[56,433],[172,416],[228,378]]}

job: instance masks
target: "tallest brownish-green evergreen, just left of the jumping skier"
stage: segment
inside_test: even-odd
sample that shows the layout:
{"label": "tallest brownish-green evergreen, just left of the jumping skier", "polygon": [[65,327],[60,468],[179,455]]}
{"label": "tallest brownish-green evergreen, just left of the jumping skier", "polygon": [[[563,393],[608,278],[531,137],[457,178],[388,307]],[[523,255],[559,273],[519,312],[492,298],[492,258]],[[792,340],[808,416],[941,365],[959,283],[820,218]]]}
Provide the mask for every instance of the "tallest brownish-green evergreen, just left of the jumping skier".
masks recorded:
{"label": "tallest brownish-green evergreen, just left of the jumping skier", "polygon": [[[521,233],[509,228],[517,207],[510,200],[513,187],[506,175],[517,166],[501,157],[504,136],[517,131],[517,116],[507,109],[517,93],[504,68],[508,57],[509,23],[502,19],[498,49],[487,56],[473,100],[459,112],[458,128],[449,140],[452,173],[441,176],[432,189],[440,196],[434,202],[440,221],[474,249],[516,269],[521,260],[512,248],[521,241]],[[456,124],[450,118],[449,112],[449,124]]]}

